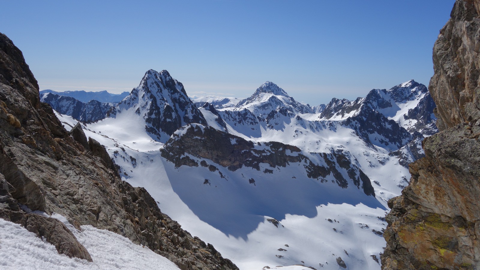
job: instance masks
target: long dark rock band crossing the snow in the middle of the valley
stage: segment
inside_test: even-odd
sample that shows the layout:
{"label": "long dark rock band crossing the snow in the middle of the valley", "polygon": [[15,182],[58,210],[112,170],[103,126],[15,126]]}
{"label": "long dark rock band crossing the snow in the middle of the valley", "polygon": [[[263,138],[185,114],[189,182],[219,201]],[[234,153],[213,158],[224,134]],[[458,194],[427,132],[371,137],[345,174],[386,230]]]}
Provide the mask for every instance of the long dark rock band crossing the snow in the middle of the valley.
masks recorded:
{"label": "long dark rock band crossing the snow in the middle of the valley", "polygon": [[[182,127],[179,133],[172,135],[162,149],[162,157],[173,162],[175,167],[182,165],[197,167],[198,163],[185,156],[185,153],[196,158],[212,160],[230,171],[236,171],[243,166],[260,171],[260,163],[267,163],[276,168],[298,162],[304,166],[309,178],[324,181],[323,178],[333,174],[336,184],[347,188],[349,181],[340,172],[344,170],[357,188],[361,188],[366,195],[375,196],[368,176],[341,154],[312,153],[324,161],[324,165],[318,165],[302,155],[300,148],[296,146],[279,142],[258,145],[212,127],[197,124]],[[200,162],[200,165],[206,167],[207,163]]]}

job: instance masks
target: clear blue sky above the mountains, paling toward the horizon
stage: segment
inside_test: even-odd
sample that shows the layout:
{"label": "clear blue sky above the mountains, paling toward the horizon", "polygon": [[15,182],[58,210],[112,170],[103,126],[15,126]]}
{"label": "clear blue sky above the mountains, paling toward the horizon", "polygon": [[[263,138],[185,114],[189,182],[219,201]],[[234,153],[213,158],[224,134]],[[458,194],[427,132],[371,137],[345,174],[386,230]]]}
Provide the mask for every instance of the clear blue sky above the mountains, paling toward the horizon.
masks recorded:
{"label": "clear blue sky above the mountains, paling toward the horizon", "polygon": [[189,95],[272,81],[310,105],[428,85],[454,0],[0,0],[40,89],[131,91],[166,69]]}

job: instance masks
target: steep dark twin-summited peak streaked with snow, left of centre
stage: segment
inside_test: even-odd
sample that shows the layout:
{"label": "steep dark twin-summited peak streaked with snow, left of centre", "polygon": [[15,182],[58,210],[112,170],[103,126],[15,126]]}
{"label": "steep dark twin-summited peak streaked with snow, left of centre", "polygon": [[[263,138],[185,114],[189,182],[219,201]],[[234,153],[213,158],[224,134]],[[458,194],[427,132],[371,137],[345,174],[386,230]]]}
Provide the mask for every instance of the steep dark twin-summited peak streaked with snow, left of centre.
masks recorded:
{"label": "steep dark twin-summited peak streaked with snow, left of centre", "polygon": [[206,124],[200,110],[188,98],[183,85],[173,79],[168,71],[145,73],[140,85],[133,88],[109,116],[124,110],[134,110],[145,120],[145,130],[159,142],[168,138],[181,126],[188,123]]}

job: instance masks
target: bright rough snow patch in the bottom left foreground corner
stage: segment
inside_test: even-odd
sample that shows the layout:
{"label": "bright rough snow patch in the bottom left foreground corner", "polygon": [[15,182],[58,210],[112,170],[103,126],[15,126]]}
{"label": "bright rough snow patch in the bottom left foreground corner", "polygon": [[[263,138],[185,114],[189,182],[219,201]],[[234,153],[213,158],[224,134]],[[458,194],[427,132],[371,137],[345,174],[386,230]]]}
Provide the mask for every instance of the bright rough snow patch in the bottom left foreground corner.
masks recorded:
{"label": "bright rough snow patch in the bottom left foreground corner", "polygon": [[[60,215],[54,215],[57,218]],[[60,216],[61,217],[61,216]],[[60,221],[66,221],[65,218]],[[71,225],[66,224],[72,230]],[[42,241],[19,224],[0,219],[1,269],[163,269],[179,268],[150,249],[128,238],[91,225],[72,230],[92,256],[93,262],[59,254],[54,245]]]}

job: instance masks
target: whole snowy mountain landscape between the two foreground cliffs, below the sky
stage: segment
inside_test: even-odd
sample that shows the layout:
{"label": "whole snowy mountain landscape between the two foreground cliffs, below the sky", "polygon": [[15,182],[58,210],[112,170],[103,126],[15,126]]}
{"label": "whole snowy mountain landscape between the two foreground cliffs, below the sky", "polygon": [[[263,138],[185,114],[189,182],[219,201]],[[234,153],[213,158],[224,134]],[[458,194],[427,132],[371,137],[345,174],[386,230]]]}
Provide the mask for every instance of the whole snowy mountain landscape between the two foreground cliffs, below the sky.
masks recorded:
{"label": "whole snowy mountain landscape between the two foreground cliffs, below the sky", "polygon": [[[42,100],[73,115],[77,103],[63,99]],[[107,112],[89,108],[96,120],[77,120],[122,179],[240,269],[380,269],[386,201],[437,132],[435,104],[413,80],[310,107],[272,82],[241,100],[191,100],[167,71],[149,70]]]}

